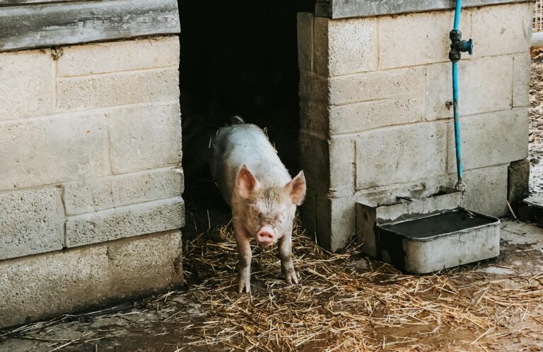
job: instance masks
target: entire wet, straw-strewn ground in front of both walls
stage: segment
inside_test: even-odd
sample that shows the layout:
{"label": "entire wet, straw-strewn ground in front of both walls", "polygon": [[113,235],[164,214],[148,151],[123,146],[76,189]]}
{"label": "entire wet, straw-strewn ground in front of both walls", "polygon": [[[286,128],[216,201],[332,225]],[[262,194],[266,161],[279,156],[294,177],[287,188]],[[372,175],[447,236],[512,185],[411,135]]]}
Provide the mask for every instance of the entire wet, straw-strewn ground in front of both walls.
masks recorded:
{"label": "entire wet, straw-strewn ground in front of both walls", "polygon": [[187,246],[187,289],[0,331],[1,352],[543,351],[543,229],[505,221],[498,259],[411,276],[300,233],[300,284],[255,249],[235,293],[223,228]]}

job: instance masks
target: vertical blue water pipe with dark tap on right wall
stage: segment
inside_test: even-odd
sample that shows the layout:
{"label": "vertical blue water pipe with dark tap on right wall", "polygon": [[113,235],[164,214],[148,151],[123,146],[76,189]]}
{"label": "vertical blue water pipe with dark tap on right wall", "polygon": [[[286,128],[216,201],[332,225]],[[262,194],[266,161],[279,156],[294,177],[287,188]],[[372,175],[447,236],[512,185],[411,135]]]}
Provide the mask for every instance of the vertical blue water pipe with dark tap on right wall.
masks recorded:
{"label": "vertical blue water pipe with dark tap on right wall", "polygon": [[456,147],[456,171],[458,181],[456,189],[465,191],[465,184],[462,178],[462,152],[460,147],[460,115],[458,109],[458,61],[460,60],[460,52],[468,52],[472,55],[473,45],[472,40],[462,40],[462,32],[460,32],[460,11],[462,11],[462,0],[456,1],[455,8],[455,23],[449,33],[451,40],[449,59],[452,62],[452,109],[454,110],[455,118],[455,147]]}

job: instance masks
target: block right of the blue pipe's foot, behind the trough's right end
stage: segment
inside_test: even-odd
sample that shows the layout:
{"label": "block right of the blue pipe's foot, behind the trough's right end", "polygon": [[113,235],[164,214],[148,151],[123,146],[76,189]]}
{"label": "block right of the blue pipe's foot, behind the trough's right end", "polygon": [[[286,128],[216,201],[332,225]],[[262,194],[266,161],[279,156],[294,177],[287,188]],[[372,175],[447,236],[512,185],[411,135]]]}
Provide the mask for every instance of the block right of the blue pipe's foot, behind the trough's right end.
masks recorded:
{"label": "block right of the blue pipe's foot, behind the trough's right end", "polygon": [[508,165],[466,171],[464,207],[496,217],[506,215],[507,173]]}

